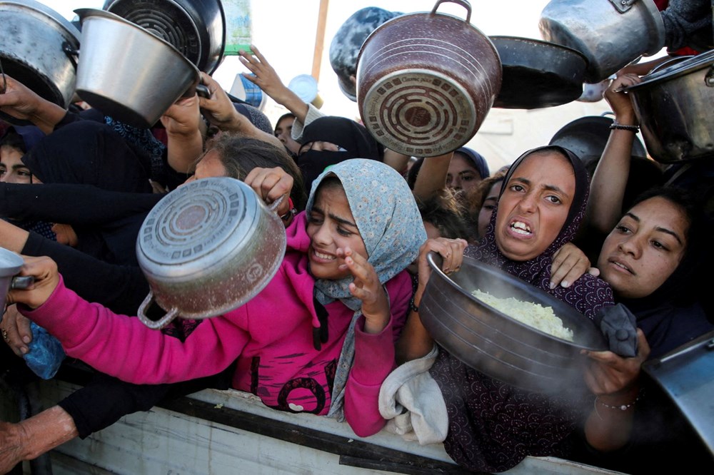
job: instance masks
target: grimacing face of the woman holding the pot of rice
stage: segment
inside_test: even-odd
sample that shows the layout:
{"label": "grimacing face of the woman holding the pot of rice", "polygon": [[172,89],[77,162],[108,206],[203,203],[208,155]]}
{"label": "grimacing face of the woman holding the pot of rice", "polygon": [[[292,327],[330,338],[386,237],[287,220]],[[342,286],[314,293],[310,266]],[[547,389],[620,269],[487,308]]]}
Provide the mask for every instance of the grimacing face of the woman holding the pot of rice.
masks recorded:
{"label": "grimacing face of the woman holding the pot of rice", "polygon": [[575,195],[575,172],[559,153],[535,153],[521,162],[503,186],[496,245],[508,259],[531,260],[563,228]]}

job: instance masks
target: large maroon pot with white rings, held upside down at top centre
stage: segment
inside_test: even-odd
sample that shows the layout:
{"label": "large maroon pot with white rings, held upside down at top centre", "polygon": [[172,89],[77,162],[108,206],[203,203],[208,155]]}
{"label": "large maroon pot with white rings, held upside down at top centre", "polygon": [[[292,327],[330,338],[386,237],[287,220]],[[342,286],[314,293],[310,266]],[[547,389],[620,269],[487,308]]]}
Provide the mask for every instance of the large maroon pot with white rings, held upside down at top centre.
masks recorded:
{"label": "large maroon pot with white rings, held upside down at top centre", "polygon": [[[438,14],[444,1],[466,20]],[[501,89],[496,48],[470,23],[471,5],[439,0],[430,13],[397,16],[365,40],[357,102],[368,131],[405,155],[436,156],[468,142]]]}

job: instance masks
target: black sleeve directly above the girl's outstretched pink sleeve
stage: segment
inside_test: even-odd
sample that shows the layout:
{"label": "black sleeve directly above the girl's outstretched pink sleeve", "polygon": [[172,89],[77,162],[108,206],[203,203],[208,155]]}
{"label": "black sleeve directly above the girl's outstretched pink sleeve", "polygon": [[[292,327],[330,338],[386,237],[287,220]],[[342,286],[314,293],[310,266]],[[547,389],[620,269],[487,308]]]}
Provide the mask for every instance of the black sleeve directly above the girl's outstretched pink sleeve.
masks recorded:
{"label": "black sleeve directly above the girl's outstretched pink sleeve", "polygon": [[25,255],[51,257],[67,287],[84,300],[98,302],[122,315],[136,315],[149,284],[139,267],[112,265],[72,247],[30,233]]}

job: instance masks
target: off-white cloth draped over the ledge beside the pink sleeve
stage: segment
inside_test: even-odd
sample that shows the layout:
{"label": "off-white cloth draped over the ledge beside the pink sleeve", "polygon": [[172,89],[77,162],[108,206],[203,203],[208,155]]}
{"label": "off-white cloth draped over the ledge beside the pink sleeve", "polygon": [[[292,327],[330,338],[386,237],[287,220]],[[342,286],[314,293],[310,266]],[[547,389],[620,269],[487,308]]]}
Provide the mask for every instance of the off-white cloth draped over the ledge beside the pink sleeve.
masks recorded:
{"label": "off-white cloth draped over the ledge beside the pink sleeve", "polygon": [[421,445],[443,442],[448,432],[446,403],[429,374],[437,355],[434,345],[426,356],[391,372],[379,390],[379,412],[387,419],[387,431]]}

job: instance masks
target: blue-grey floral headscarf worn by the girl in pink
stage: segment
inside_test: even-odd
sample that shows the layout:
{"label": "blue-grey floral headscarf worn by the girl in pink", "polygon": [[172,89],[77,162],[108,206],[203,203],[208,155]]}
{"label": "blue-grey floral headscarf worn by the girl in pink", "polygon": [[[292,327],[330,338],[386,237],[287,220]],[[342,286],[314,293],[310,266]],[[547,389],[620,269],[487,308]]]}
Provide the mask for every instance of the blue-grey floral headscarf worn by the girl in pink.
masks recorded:
{"label": "blue-grey floral headscarf worn by the girl in pink", "polygon": [[[416,259],[426,231],[406,180],[376,160],[353,158],[328,168],[313,182],[306,207],[310,215],[322,180],[336,176],[342,183],[355,224],[367,250],[368,262],[383,285]],[[353,277],[315,281],[315,296],[322,305],[340,300],[355,313],[342,347],[335,374],[329,416],[342,419],[344,387],[354,358],[354,325],[362,315],[361,301],[348,285]]]}

